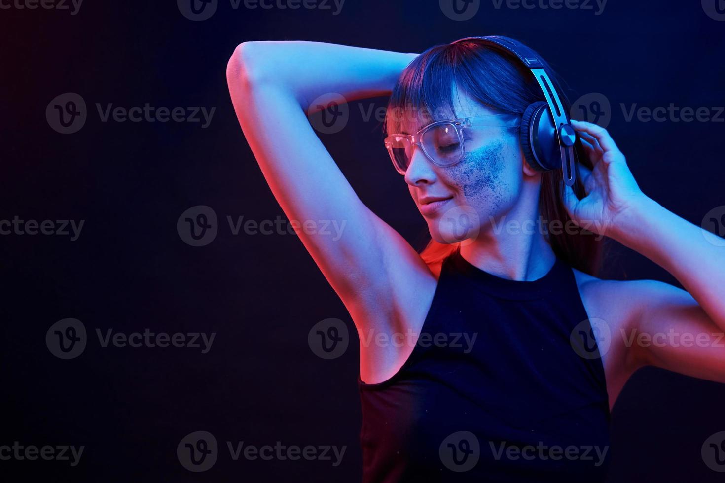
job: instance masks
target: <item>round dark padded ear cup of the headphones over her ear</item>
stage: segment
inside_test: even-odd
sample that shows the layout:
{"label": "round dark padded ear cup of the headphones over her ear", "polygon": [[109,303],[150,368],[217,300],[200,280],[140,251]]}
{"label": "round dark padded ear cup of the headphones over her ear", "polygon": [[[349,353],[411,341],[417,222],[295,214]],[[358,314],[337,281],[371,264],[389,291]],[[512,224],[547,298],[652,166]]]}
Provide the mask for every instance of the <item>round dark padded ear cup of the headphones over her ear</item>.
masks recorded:
{"label": "round dark padded ear cup of the headphones over her ear", "polygon": [[533,169],[551,171],[561,167],[559,140],[545,101],[531,103],[523,112],[519,139],[521,151]]}

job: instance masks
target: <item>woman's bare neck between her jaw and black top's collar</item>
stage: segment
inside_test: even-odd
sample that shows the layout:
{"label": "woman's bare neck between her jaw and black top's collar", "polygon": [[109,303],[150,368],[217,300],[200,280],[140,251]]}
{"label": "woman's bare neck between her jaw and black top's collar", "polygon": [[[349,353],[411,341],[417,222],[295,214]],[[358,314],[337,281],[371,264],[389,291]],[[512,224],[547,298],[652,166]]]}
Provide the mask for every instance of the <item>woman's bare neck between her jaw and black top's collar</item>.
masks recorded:
{"label": "woman's bare neck between her jaw and black top's collar", "polygon": [[479,236],[465,240],[460,247],[461,256],[470,264],[508,280],[537,280],[556,261],[539,223],[539,183],[536,189],[524,185],[513,208],[497,218],[482,220]]}

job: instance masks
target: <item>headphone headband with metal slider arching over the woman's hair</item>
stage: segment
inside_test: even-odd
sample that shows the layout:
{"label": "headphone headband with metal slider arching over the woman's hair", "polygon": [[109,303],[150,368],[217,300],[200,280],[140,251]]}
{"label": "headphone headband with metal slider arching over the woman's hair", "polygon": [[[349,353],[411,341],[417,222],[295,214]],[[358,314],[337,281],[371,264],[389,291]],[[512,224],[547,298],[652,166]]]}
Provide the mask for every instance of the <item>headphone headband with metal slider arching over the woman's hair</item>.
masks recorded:
{"label": "headphone headband with metal slider arching over the woman's hair", "polygon": [[[574,167],[574,142],[576,141],[576,132],[566,115],[566,110],[559,99],[554,84],[551,82],[549,75],[544,70],[544,63],[539,59],[539,55],[523,43],[513,40],[513,38],[502,37],[500,35],[489,35],[487,37],[466,37],[452,43],[463,41],[477,40],[487,43],[491,46],[497,46],[516,56],[523,65],[525,65],[534,78],[539,83],[539,87],[544,93],[547,104],[549,104],[549,112],[554,121],[556,138],[560,147],[561,168],[564,182],[571,186],[576,181],[576,168]],[[550,167],[552,169],[552,167]]]}

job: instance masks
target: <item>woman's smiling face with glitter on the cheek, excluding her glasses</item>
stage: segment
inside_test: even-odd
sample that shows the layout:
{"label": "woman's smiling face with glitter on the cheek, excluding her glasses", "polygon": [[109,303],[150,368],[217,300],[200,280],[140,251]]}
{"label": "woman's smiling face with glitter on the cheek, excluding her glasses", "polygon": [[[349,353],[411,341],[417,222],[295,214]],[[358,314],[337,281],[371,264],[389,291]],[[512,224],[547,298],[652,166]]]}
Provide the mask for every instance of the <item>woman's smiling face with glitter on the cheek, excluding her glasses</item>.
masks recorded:
{"label": "woman's smiling face with glitter on the cheek, excluding her glasses", "polygon": [[[456,117],[499,114],[463,93],[454,99]],[[402,130],[415,133],[429,123],[408,117]],[[523,154],[515,129],[467,127],[463,140],[465,156],[460,163],[439,167],[415,148],[405,173],[410,196],[439,243],[473,242],[508,212],[521,192]]]}

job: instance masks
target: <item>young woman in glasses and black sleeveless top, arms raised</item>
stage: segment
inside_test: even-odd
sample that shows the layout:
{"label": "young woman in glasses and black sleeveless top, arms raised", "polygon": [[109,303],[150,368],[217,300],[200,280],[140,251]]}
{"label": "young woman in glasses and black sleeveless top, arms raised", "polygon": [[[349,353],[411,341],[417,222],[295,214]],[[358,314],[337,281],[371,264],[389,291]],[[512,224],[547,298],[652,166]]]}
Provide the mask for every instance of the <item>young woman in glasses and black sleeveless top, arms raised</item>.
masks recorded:
{"label": "young woman in glasses and black sleeveless top, arms raised", "polygon": [[[476,40],[420,55],[245,42],[227,76],[286,216],[346,222],[339,239],[299,237],[360,336],[366,482],[602,481],[609,411],[634,371],[725,382],[725,248],[645,196],[602,127],[572,122],[573,187],[534,169],[519,131],[544,95],[515,56]],[[392,93],[386,146],[428,224],[422,253],[315,135],[307,114],[326,104],[310,103],[331,93]],[[600,280],[603,236],[686,290]]]}

